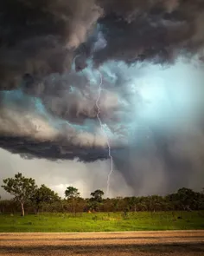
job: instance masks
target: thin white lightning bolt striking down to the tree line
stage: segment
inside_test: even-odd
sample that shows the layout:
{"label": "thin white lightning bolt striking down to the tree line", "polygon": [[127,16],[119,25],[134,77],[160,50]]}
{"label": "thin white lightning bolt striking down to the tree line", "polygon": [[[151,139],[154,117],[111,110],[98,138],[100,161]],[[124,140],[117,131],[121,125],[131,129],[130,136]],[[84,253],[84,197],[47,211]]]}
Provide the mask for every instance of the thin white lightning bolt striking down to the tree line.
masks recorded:
{"label": "thin white lightning bolt striking down to the tree line", "polygon": [[108,174],[108,177],[107,177],[107,189],[106,189],[106,195],[108,197],[109,195],[109,189],[110,189],[110,179],[111,179],[111,175],[112,175],[112,171],[113,171],[113,161],[112,161],[112,149],[111,149],[111,145],[110,145],[110,142],[109,142],[109,138],[108,138],[108,135],[105,133],[105,129],[104,129],[104,125],[100,119],[100,107],[99,107],[99,99],[100,99],[100,95],[101,95],[101,86],[102,86],[102,83],[103,83],[103,78],[102,78],[102,75],[99,71],[99,75],[100,75],[100,83],[99,83],[99,90],[98,90],[98,98],[96,100],[96,107],[98,108],[98,113],[97,113],[97,118],[99,120],[99,124],[100,124],[100,128],[101,128],[101,131],[103,132],[103,134],[105,135],[105,138],[106,138],[106,143],[107,143],[107,146],[108,146],[108,155],[109,155],[109,158],[111,160],[111,170],[110,170],[110,173]]}

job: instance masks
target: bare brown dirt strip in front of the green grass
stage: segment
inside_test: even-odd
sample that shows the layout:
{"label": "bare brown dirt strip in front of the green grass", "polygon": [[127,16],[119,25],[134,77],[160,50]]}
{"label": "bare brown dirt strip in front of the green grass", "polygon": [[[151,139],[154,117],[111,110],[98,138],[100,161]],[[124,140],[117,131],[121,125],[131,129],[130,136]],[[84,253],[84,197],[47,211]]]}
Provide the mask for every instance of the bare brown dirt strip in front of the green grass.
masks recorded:
{"label": "bare brown dirt strip in front of the green grass", "polygon": [[0,233],[0,255],[201,256],[204,231]]}

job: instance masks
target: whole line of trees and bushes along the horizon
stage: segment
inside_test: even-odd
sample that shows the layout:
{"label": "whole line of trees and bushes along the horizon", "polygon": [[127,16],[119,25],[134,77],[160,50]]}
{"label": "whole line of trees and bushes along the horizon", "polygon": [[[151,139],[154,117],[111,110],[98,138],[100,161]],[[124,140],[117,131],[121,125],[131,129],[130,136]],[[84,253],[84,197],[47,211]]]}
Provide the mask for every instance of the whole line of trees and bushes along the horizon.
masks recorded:
{"label": "whole line of trees and bushes along the horizon", "polygon": [[174,194],[166,196],[131,196],[104,199],[100,189],[93,191],[90,198],[84,199],[76,187],[67,187],[65,198],[61,198],[51,188],[37,187],[35,180],[26,178],[21,173],[14,178],[3,180],[4,190],[11,195],[11,200],[0,200],[0,213],[76,213],[82,212],[137,212],[137,211],[194,211],[204,210],[204,189],[194,192],[182,187]]}

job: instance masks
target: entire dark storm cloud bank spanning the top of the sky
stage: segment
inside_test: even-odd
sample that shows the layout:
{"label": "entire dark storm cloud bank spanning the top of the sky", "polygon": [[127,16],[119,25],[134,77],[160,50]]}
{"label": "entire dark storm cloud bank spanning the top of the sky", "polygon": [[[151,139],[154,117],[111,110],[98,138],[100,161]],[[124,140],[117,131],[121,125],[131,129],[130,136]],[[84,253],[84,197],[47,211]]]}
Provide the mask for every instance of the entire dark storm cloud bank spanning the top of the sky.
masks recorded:
{"label": "entire dark storm cloud bank spanning the top of the sky", "polygon": [[[173,62],[181,51],[201,49],[203,13],[202,0],[2,1],[0,88],[16,88],[28,73],[39,79],[66,72],[74,50],[84,56],[80,69],[93,51],[97,64]],[[92,33],[97,20],[102,47]]]}

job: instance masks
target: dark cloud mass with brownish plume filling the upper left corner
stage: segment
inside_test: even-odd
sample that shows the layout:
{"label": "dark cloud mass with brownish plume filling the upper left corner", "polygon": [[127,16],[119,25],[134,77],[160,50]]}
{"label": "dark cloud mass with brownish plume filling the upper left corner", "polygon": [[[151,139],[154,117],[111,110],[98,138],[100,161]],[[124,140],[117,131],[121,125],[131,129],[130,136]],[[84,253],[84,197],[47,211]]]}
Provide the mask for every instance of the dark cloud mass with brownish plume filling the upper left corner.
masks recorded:
{"label": "dark cloud mass with brownish plume filling the upper left corner", "polygon": [[69,69],[100,11],[92,0],[1,1],[0,88],[16,88],[26,73],[41,78]]}

